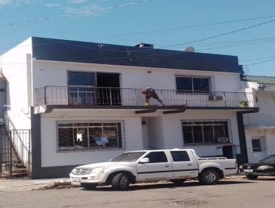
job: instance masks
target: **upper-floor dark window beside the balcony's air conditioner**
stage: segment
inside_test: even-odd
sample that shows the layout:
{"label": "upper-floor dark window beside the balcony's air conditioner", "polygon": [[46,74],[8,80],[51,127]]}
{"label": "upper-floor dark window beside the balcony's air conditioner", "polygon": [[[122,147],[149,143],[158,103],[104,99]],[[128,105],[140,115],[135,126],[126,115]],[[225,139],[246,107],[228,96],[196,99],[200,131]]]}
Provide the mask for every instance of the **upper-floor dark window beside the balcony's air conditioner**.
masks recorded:
{"label": "upper-floor dark window beside the balcony's air conditioner", "polygon": [[210,92],[209,77],[176,76],[177,93],[208,93]]}

